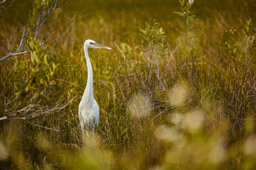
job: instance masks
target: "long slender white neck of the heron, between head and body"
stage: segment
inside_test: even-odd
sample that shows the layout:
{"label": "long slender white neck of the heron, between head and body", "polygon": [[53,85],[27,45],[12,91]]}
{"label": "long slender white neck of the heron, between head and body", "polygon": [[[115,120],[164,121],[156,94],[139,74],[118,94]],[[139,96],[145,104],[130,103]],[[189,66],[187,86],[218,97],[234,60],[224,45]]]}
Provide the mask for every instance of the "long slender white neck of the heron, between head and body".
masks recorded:
{"label": "long slender white neck of the heron, between head and body", "polygon": [[89,94],[89,96],[93,97],[93,76],[92,76],[92,64],[88,55],[88,48],[84,48],[84,54],[86,59],[86,66],[88,71],[86,88],[84,90],[84,94]]}

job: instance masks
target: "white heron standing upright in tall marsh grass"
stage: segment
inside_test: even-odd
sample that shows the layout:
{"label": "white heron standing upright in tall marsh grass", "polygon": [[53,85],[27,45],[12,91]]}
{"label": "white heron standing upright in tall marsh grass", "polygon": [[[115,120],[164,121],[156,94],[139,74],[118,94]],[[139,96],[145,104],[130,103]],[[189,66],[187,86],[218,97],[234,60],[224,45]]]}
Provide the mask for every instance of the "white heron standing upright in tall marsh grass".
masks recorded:
{"label": "white heron standing upright in tall marsh grass", "polygon": [[100,45],[91,39],[87,39],[84,42],[84,55],[86,59],[86,66],[88,70],[86,88],[84,90],[83,97],[79,103],[79,120],[81,128],[84,133],[88,135],[86,130],[95,130],[99,125],[99,106],[97,101],[93,97],[93,74],[92,64],[88,55],[88,48],[105,48],[111,50],[108,46]]}

